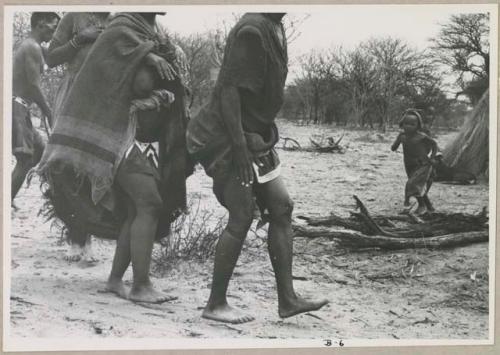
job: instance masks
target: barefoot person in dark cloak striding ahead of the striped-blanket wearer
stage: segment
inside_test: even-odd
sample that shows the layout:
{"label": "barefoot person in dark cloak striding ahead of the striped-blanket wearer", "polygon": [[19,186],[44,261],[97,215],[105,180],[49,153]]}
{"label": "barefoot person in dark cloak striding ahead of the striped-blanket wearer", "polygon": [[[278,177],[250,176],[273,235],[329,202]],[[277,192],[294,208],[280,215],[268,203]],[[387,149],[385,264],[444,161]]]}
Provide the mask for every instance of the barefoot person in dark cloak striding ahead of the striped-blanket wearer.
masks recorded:
{"label": "barefoot person in dark cloak striding ahead of the striped-blanket wearer", "polygon": [[243,323],[254,319],[230,307],[229,280],[253,220],[254,201],[269,218],[269,254],[286,318],[314,311],[327,301],[306,301],[292,282],[293,203],[280,177],[274,123],[283,103],[287,44],[283,13],[247,13],[231,30],[210,103],[187,131],[188,151],[213,179],[228,224],[217,244],[210,298],[203,317]]}

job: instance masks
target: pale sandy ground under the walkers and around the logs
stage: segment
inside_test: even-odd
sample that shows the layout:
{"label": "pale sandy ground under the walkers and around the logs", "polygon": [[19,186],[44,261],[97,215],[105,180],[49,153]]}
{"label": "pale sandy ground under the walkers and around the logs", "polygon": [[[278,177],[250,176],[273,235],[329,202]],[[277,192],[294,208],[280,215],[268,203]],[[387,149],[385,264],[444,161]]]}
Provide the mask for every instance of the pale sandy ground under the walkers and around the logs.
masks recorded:
{"label": "pale sandy ground under the walkers and around the logs", "polygon": [[[340,129],[280,123],[281,134],[308,144],[314,133],[338,137]],[[295,215],[346,214],[357,194],[375,213],[402,206],[405,174],[401,153],[386,137],[346,131],[345,154],[280,150],[283,175]],[[445,145],[452,135],[440,136]],[[360,137],[364,139],[359,140]],[[369,139],[368,139],[369,138]],[[198,170],[189,179],[192,198],[223,213],[211,181]],[[478,212],[488,203],[488,186],[435,184],[430,197],[438,210]],[[16,337],[245,337],[337,339],[485,339],[488,333],[488,244],[450,250],[346,251],[334,241],[296,239],[294,276],[298,292],[326,297],[313,314],[281,320],[265,243],[249,237],[230,284],[229,301],[256,316],[241,325],[204,320],[212,260],[183,261],[153,275],[155,285],[177,300],[134,304],[103,293],[114,242],[94,240],[96,263],[69,263],[57,230],[37,216],[38,184],[22,189],[12,214],[11,333]],[[262,237],[262,231],[259,235]],[[158,268],[156,268],[158,269]],[[126,274],[131,279],[130,270]]]}

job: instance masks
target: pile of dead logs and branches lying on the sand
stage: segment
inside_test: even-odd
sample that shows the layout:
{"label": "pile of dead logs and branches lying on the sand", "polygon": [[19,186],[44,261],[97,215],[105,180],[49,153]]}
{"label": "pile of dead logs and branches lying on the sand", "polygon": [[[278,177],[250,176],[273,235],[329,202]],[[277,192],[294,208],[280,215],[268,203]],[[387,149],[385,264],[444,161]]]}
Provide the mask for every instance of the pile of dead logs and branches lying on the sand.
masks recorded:
{"label": "pile of dead logs and branches lying on the sand", "polygon": [[[359,212],[349,218],[331,214],[328,217],[304,217],[307,225],[294,224],[296,237],[330,238],[351,248],[446,248],[488,241],[486,209],[477,215],[434,213],[423,218],[411,215],[372,217],[357,196],[353,196]],[[398,227],[390,220],[394,218]],[[381,227],[384,225],[384,228]],[[345,229],[339,229],[342,227]]]}

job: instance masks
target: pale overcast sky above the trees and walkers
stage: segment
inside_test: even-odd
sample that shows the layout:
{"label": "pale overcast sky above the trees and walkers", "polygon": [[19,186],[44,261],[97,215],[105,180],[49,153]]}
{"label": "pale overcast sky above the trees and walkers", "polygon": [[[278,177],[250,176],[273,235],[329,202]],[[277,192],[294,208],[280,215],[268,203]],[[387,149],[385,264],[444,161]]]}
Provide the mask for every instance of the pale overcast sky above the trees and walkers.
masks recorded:
{"label": "pale overcast sky above the trees and walkers", "polygon": [[[201,33],[231,21],[235,7],[175,7],[161,17],[173,32],[183,35]],[[246,11],[262,11],[250,7]],[[243,11],[245,11],[243,10]],[[279,10],[269,8],[268,10]],[[452,14],[484,12],[481,5],[333,5],[287,7],[288,13],[309,17],[300,26],[301,35],[289,45],[290,78],[295,76],[295,59],[311,49],[343,46],[353,48],[370,37],[395,36],[424,49],[429,38],[439,31],[439,24]],[[284,11],[284,9],[281,9]],[[299,15],[299,16],[300,16]]]}

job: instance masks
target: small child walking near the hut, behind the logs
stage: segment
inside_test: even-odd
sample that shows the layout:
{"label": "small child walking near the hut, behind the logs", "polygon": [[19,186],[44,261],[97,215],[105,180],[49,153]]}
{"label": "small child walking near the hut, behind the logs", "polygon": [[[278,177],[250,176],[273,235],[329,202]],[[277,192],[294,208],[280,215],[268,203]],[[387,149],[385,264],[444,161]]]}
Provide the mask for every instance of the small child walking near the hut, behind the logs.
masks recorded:
{"label": "small child walking near the hut, behind the logs", "polygon": [[410,197],[418,202],[417,214],[433,212],[434,207],[428,197],[434,178],[434,164],[437,154],[437,143],[424,133],[422,117],[414,109],[406,110],[399,122],[403,129],[391,146],[396,151],[403,144],[404,165],[408,182],[405,187],[405,208],[410,207]]}

